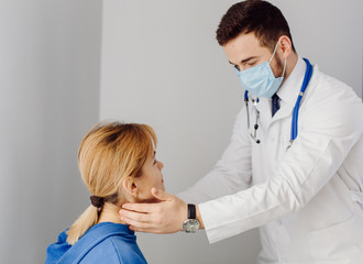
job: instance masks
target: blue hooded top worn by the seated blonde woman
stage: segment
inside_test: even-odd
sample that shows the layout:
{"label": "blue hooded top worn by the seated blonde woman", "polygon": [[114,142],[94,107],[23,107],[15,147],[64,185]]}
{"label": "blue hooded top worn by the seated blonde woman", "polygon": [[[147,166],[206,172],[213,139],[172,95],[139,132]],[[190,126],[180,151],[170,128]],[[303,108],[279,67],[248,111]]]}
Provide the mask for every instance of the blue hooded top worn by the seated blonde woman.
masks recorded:
{"label": "blue hooded top worn by the seated blonde woman", "polygon": [[[67,231],[67,230],[66,230]],[[74,245],[66,231],[46,250],[45,264],[120,263],[145,264],[136,235],[127,224],[102,222],[91,227]]]}

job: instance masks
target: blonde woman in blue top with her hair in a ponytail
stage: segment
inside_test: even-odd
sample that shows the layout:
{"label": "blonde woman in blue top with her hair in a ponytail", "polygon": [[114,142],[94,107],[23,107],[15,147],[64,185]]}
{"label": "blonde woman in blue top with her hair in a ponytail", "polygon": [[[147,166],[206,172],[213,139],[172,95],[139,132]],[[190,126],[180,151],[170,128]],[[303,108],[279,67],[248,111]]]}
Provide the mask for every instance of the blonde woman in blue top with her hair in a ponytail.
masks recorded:
{"label": "blonde woman in blue top with her hair in a ponytail", "polygon": [[78,167],[91,206],[47,248],[46,264],[146,263],[118,211],[123,202],[151,201],[152,187],[165,189],[155,147],[155,132],[146,124],[98,124],[86,134]]}

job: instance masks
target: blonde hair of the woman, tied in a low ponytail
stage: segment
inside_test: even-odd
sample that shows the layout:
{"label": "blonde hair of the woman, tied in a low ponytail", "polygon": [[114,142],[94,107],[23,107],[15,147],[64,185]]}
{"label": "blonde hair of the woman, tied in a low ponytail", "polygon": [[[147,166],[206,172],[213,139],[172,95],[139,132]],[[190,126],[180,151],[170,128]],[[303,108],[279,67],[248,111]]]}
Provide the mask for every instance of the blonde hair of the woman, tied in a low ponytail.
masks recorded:
{"label": "blonde hair of the woman, tied in a low ponytail", "polygon": [[[99,123],[82,139],[78,167],[88,190],[105,202],[118,204],[122,179],[139,177],[148,155],[156,147],[154,130],[146,124]],[[68,230],[67,242],[75,244],[98,222],[99,209],[89,206]]]}

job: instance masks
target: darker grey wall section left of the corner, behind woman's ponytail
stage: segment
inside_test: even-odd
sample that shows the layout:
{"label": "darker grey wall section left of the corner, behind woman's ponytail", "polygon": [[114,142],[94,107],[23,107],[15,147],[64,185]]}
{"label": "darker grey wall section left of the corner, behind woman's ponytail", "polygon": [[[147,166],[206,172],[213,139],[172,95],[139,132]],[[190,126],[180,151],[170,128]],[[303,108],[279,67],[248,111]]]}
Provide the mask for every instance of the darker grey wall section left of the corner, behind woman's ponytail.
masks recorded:
{"label": "darker grey wall section left of the corner, behind woman's ponytail", "polygon": [[101,4],[0,1],[0,263],[44,263],[89,205],[77,150],[99,118]]}

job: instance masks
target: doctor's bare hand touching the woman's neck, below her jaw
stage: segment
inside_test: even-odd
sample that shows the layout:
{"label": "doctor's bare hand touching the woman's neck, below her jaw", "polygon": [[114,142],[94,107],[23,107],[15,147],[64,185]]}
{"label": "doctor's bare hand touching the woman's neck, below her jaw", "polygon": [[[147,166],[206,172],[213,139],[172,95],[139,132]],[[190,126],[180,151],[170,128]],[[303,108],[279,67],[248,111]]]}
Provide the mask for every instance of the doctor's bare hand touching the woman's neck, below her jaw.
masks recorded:
{"label": "doctor's bare hand touching the woman's neck, below her jaw", "polygon": [[152,188],[158,200],[153,204],[124,204],[119,211],[121,221],[131,230],[150,233],[175,233],[183,230],[187,204],[172,194]]}

